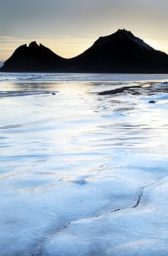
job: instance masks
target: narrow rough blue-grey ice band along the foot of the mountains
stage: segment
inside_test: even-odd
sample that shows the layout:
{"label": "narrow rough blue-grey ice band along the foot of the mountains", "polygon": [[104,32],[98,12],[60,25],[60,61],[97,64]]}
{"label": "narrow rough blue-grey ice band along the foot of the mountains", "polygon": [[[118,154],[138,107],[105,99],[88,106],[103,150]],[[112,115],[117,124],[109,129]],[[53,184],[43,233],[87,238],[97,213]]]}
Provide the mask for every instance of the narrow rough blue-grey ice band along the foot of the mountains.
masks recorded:
{"label": "narrow rough blue-grey ice band along the foot of the mountains", "polygon": [[[141,44],[142,45],[142,44]],[[144,46],[144,45],[143,45]],[[102,74],[102,73],[7,73],[1,72],[0,81],[60,82],[60,81],[167,81],[167,74]]]}

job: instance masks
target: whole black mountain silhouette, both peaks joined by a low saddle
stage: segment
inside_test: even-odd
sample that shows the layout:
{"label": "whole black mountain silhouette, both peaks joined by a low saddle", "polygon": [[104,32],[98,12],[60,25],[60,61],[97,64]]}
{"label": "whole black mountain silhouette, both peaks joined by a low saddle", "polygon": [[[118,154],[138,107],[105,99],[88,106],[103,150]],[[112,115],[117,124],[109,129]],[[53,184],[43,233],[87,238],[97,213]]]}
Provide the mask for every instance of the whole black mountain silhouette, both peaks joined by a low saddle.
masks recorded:
{"label": "whole black mountain silhouette, both peaks joined by a low saddle", "polygon": [[20,46],[0,69],[7,72],[168,72],[168,56],[130,31],[99,37],[91,48],[64,59],[43,45]]}

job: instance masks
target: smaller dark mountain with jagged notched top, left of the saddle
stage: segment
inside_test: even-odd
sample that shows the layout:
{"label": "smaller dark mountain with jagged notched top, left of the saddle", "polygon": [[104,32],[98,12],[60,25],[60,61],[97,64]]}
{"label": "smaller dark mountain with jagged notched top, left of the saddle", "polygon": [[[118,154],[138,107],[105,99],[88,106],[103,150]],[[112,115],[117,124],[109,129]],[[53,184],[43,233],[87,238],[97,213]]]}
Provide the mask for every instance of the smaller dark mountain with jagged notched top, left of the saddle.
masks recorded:
{"label": "smaller dark mountain with jagged notched top, left of the saddle", "polygon": [[66,59],[61,58],[44,45],[31,42],[21,45],[12,56],[4,62],[2,72],[54,72],[66,66]]}

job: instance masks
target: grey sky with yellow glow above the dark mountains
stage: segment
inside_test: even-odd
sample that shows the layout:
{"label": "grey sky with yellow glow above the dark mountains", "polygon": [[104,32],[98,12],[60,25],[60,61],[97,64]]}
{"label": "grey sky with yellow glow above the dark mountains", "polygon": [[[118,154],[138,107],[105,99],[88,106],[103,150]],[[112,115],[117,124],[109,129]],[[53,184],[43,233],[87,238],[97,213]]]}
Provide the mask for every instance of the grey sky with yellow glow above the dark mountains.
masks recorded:
{"label": "grey sky with yellow glow above the dark mountains", "polygon": [[74,57],[118,29],[168,53],[167,10],[167,0],[0,0],[0,61],[34,40]]}

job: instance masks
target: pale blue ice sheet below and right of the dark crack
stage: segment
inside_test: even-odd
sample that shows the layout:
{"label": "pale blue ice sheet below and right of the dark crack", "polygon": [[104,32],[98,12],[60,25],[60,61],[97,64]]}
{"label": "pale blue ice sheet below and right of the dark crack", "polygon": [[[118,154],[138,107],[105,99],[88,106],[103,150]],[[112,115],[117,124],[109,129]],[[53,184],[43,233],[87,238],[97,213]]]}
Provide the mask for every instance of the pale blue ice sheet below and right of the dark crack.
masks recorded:
{"label": "pale blue ice sheet below and right of the dark crack", "polygon": [[167,255],[167,178],[159,186],[146,190],[138,208],[72,222],[47,238],[41,252],[44,255]]}

